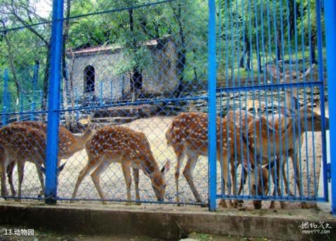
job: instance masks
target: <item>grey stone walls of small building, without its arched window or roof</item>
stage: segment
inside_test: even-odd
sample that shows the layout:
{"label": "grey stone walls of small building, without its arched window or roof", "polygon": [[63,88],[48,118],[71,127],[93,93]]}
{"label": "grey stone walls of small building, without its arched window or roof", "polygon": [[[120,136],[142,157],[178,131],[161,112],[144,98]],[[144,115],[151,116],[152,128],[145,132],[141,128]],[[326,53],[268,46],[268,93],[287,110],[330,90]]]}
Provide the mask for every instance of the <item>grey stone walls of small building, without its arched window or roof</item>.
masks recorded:
{"label": "grey stone walls of small building, without its arched window or roof", "polygon": [[[173,92],[179,83],[176,71],[176,46],[169,39],[160,40],[158,45],[146,46],[148,55],[141,61],[143,69],[143,92],[162,95]],[[80,53],[73,62],[73,86],[79,98],[92,93],[85,93],[84,69],[94,67],[94,96],[98,99],[120,99],[130,92],[130,72],[118,73],[117,67],[127,63],[121,49]],[[69,68],[68,68],[69,69]]]}

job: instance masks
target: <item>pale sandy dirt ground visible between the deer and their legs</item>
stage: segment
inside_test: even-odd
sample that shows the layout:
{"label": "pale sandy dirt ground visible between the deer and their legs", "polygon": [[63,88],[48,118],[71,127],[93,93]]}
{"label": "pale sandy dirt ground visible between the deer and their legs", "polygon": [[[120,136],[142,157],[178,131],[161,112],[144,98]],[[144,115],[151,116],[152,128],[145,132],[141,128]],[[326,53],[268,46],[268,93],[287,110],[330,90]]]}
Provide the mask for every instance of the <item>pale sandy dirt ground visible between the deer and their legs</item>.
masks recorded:
{"label": "pale sandy dirt ground visible between the deer and their legs", "polygon": [[[166,201],[174,202],[176,191],[175,191],[175,180],[174,180],[174,166],[176,165],[176,158],[172,148],[167,147],[167,142],[165,140],[165,132],[169,124],[172,122],[172,117],[167,116],[155,116],[151,118],[143,118],[132,123],[127,123],[125,126],[132,128],[133,130],[141,131],[146,134],[148,137],[151,149],[154,153],[156,160],[159,163],[159,166],[165,163],[166,160],[171,160],[172,167],[169,172],[165,175],[167,181],[166,189]],[[300,168],[302,170],[303,177],[303,188],[304,195],[314,196],[314,193],[317,193],[318,188],[318,177],[320,173],[321,166],[321,132],[307,132],[307,135],[304,135],[304,144],[302,145],[301,150],[302,163]],[[286,161],[286,160],[283,160]],[[74,184],[80,170],[83,169],[84,165],[87,162],[86,151],[80,151],[74,156],[67,160],[64,170],[59,174],[59,186],[57,195],[60,198],[71,198],[73,192]],[[186,162],[186,160],[185,160]],[[298,196],[297,187],[294,188],[294,179],[293,179],[293,168],[289,160],[288,172],[290,177],[290,190],[294,195]],[[40,190],[40,184],[37,178],[35,167],[27,163],[25,167],[25,179],[24,184],[22,185],[22,195],[28,197],[36,197],[38,191]],[[220,175],[220,165],[218,164],[218,194],[221,193],[221,175]],[[287,169],[286,169],[287,170]],[[183,168],[182,170],[183,171]],[[16,169],[15,169],[16,172]],[[287,172],[287,171],[286,171]],[[237,170],[237,178],[240,177],[240,167]],[[208,193],[208,162],[206,157],[200,157],[197,166],[195,167],[193,173],[195,186],[202,196],[202,200],[207,200]],[[16,173],[15,173],[15,180]],[[106,194],[108,199],[113,200],[125,200],[126,198],[126,188],[125,181],[123,177],[123,172],[119,164],[112,164],[102,175],[102,189]],[[16,184],[17,185],[17,184]],[[140,195],[141,200],[152,200],[155,201],[155,195],[153,188],[151,186],[151,181],[146,177],[142,172],[140,174]],[[9,188],[9,186],[8,186]],[[287,195],[284,191],[284,184],[281,186],[283,190],[283,195]],[[273,184],[271,184],[270,190],[273,189]],[[180,176],[180,200],[181,202],[195,202],[193,193],[190,191],[190,187],[186,182],[186,179],[183,177],[183,174]],[[248,185],[244,189],[244,194],[248,195]],[[269,193],[272,195],[272,193]],[[77,198],[83,199],[97,199],[97,191],[94,188],[94,184],[90,175],[87,175],[81,184]],[[132,198],[135,198],[134,193],[134,184],[132,184]],[[245,201],[244,205],[251,205],[251,202]],[[267,208],[269,202],[264,202],[262,208]],[[276,204],[279,205],[279,204]],[[297,208],[297,202],[288,203],[287,208]],[[312,205],[313,207],[314,205]],[[249,207],[249,206],[248,206]],[[277,206],[278,207],[278,206]]]}

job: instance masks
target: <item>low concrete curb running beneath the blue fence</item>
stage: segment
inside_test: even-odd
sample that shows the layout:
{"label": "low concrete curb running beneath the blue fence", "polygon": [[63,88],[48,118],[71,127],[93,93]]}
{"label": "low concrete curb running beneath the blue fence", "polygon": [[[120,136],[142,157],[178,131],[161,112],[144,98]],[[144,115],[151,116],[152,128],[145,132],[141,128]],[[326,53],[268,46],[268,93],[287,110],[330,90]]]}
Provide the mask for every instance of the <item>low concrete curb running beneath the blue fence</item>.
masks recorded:
{"label": "low concrete curb running beneath the blue fence", "polygon": [[[330,235],[302,234],[303,222],[325,221]],[[136,208],[123,205],[28,205],[0,202],[1,225],[25,225],[79,234],[132,234],[178,240],[209,233],[273,240],[336,240],[336,219],[314,209],[207,212],[200,207]],[[325,238],[325,239],[324,239]]]}

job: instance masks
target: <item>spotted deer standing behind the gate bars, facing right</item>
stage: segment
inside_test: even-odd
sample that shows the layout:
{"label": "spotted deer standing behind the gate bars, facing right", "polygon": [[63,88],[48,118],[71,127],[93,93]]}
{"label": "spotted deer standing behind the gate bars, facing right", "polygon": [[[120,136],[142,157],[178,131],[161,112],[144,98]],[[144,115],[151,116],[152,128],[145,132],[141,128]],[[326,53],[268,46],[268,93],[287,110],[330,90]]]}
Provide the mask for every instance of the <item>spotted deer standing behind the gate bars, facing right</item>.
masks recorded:
{"label": "spotted deer standing behind the gate bars, facing right", "polygon": [[[242,134],[246,139],[248,139],[249,148],[252,152],[256,151],[257,159],[262,158],[262,164],[267,165],[269,163],[269,156],[271,157],[270,162],[276,163],[276,176],[275,171],[272,169],[272,178],[274,185],[274,193],[276,191],[280,195],[280,156],[286,157],[286,153],[292,160],[293,169],[295,170],[297,187],[299,193],[301,193],[301,179],[299,173],[299,163],[295,162],[295,156],[293,156],[293,146],[297,144],[297,137],[294,137],[294,133],[303,134],[306,131],[312,131],[312,126],[314,123],[314,130],[321,131],[321,115],[315,113],[309,109],[300,109],[295,111],[295,116],[299,113],[299,116],[302,116],[301,119],[293,118],[293,111],[282,109],[282,113],[274,114],[274,116],[261,116],[260,118],[253,116],[253,114],[246,111],[229,111],[226,118],[230,121],[235,120],[237,128],[240,128]],[[286,115],[286,117],[285,117]],[[303,116],[307,116],[306,119]],[[267,123],[268,122],[268,123]],[[307,129],[305,128],[304,123],[307,122]],[[241,123],[241,124],[240,124]],[[300,125],[299,125],[300,123]],[[328,125],[328,118],[326,118],[326,124]],[[300,126],[300,129],[298,129]],[[294,129],[295,128],[295,129]],[[238,129],[240,130],[240,129]],[[247,130],[247,134],[246,134]],[[268,132],[268,133],[267,133]],[[260,135],[261,133],[261,135]],[[296,134],[297,135],[297,134]],[[302,139],[303,142],[303,139]],[[301,143],[302,143],[301,142]],[[300,146],[297,146],[297,151],[300,151]],[[269,156],[268,156],[269,154]],[[283,182],[287,191],[287,178],[285,170],[286,161],[282,161],[282,176]],[[276,179],[276,182],[275,182]],[[239,193],[242,186],[239,186]],[[284,208],[284,202],[280,202],[281,208]],[[304,207],[304,203],[302,206]],[[274,202],[271,202],[270,208],[274,208]]]}

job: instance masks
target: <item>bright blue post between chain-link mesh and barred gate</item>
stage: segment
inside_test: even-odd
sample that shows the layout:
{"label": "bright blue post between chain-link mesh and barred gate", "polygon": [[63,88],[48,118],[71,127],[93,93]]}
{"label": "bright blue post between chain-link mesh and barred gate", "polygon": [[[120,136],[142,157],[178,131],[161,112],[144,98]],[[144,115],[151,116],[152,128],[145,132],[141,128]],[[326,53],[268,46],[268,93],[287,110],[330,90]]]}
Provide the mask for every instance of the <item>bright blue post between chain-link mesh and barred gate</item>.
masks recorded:
{"label": "bright blue post between chain-link mesh and barred gate", "polygon": [[208,141],[209,210],[216,210],[216,1],[209,0]]}

